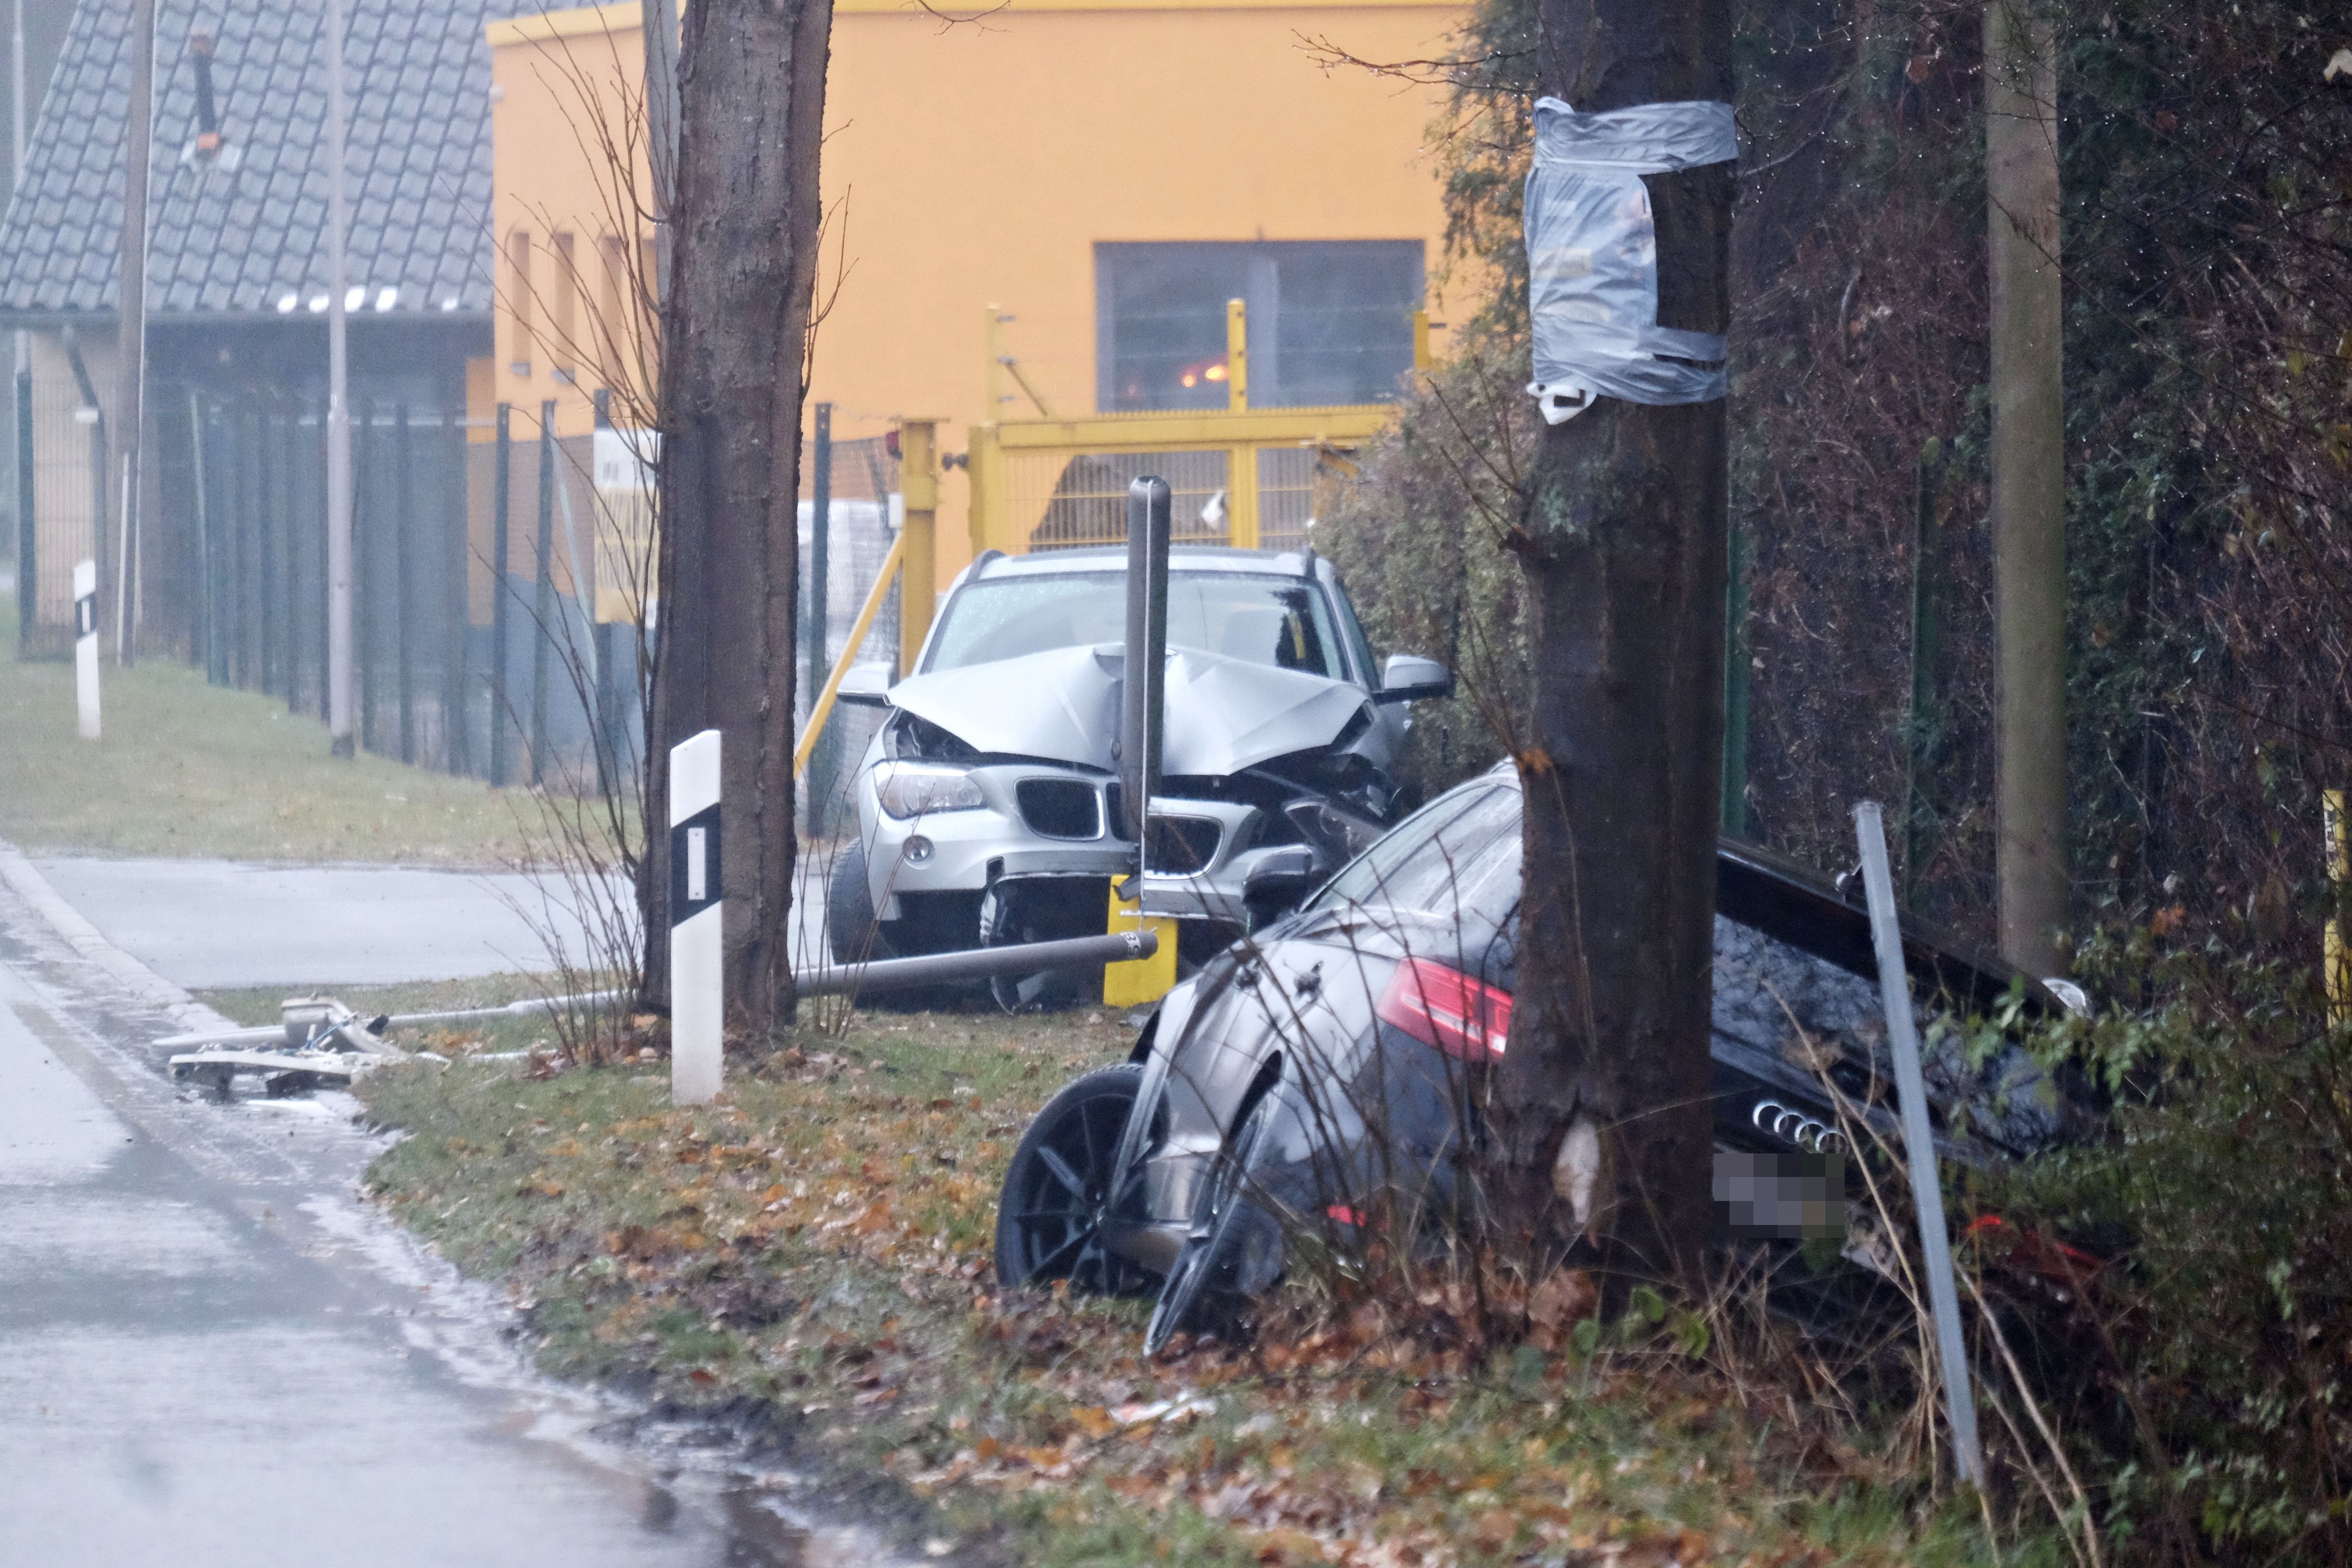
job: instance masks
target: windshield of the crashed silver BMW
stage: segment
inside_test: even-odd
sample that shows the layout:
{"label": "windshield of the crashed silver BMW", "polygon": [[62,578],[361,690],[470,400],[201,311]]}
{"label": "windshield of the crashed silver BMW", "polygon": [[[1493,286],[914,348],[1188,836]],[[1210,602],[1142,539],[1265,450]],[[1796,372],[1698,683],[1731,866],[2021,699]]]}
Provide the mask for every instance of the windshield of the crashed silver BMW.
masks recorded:
{"label": "windshield of the crashed silver BMW", "polygon": [[[1124,637],[1124,571],[1007,576],[967,583],[948,599],[924,670],[962,670]],[[1348,679],[1331,602],[1317,583],[1296,576],[1169,574],[1169,646]]]}

